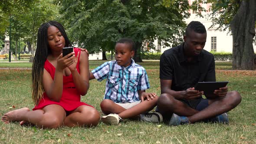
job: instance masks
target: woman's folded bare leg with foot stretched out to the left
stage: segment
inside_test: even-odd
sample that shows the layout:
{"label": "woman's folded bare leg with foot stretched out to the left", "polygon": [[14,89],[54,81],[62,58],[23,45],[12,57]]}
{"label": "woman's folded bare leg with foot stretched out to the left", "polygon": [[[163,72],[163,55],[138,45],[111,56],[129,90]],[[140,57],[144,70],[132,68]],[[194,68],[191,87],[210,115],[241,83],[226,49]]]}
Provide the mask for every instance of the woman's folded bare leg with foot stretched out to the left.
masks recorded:
{"label": "woman's folded bare leg with foot stretched out to the left", "polygon": [[39,128],[59,128],[66,118],[66,111],[60,105],[47,105],[41,110],[30,111],[20,108],[3,115],[2,121],[28,121]]}

